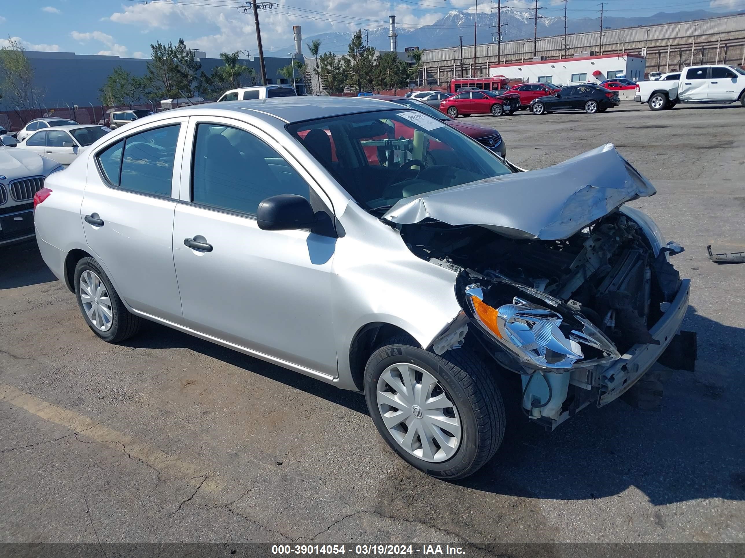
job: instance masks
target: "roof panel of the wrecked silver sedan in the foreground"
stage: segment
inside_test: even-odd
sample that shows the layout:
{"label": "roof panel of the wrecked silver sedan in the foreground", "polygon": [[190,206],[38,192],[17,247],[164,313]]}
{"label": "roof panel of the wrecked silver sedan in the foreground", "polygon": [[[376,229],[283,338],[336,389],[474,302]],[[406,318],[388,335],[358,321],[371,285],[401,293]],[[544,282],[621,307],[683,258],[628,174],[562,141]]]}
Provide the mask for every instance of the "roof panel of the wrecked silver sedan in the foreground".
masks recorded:
{"label": "roof panel of the wrecked silver sedan in the foreground", "polygon": [[[386,101],[387,103],[387,101]],[[390,105],[387,105],[390,107]],[[279,119],[287,124],[349,115],[355,112],[372,112],[385,110],[381,99],[375,97],[273,97],[270,99],[234,100],[231,103],[203,103],[194,106],[182,106],[178,109],[159,112],[145,118],[169,118],[178,115],[223,115],[253,114],[267,121],[266,117]],[[175,112],[178,111],[178,112]]]}

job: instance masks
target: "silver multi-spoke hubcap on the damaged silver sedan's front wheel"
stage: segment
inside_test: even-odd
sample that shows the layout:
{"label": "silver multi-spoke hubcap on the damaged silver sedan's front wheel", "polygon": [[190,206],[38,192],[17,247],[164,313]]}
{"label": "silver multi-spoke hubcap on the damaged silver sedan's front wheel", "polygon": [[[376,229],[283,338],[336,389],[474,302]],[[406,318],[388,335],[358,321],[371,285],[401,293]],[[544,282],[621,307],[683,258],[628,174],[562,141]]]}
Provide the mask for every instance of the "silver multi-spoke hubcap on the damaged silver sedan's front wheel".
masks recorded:
{"label": "silver multi-spoke hubcap on the damaged silver sedan's front wheel", "polygon": [[390,435],[423,461],[446,461],[461,440],[460,416],[437,378],[424,368],[399,363],[378,379],[378,410]]}

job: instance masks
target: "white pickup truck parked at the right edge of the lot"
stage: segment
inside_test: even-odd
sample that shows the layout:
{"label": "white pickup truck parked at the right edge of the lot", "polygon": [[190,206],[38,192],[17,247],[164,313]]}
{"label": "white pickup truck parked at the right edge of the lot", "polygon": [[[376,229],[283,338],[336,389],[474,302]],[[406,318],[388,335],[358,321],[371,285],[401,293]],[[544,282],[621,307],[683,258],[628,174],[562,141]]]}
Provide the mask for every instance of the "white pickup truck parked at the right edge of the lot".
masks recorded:
{"label": "white pickup truck parked at the right edge of the lot", "polygon": [[652,110],[672,109],[677,103],[735,103],[745,106],[745,70],[737,66],[686,66],[679,80],[640,81],[634,100]]}

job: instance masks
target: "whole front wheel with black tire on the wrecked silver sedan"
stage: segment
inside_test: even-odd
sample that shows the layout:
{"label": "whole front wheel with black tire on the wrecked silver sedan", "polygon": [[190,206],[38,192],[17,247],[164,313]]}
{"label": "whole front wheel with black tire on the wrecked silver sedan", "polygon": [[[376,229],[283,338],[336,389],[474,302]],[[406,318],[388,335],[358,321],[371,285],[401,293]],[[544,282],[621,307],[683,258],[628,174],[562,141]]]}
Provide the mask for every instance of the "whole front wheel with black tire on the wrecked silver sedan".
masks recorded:
{"label": "whole front wheel with black tire on the wrecked silver sedan", "polygon": [[504,436],[495,368],[467,348],[438,356],[407,337],[390,339],[367,361],[367,408],[410,465],[437,478],[465,478],[492,458]]}

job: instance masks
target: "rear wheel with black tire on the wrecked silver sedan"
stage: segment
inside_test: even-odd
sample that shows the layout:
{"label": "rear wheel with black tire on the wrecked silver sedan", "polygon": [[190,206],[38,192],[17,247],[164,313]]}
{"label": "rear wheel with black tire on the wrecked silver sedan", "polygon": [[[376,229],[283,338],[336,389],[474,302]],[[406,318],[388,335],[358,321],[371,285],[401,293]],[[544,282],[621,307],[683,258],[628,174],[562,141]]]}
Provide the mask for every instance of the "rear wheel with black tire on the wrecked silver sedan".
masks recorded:
{"label": "rear wheel with black tire on the wrecked silver sedan", "polygon": [[75,298],[88,327],[104,341],[129,339],[142,325],[142,318],[127,310],[106,272],[92,257],[83,257],[75,266]]}

